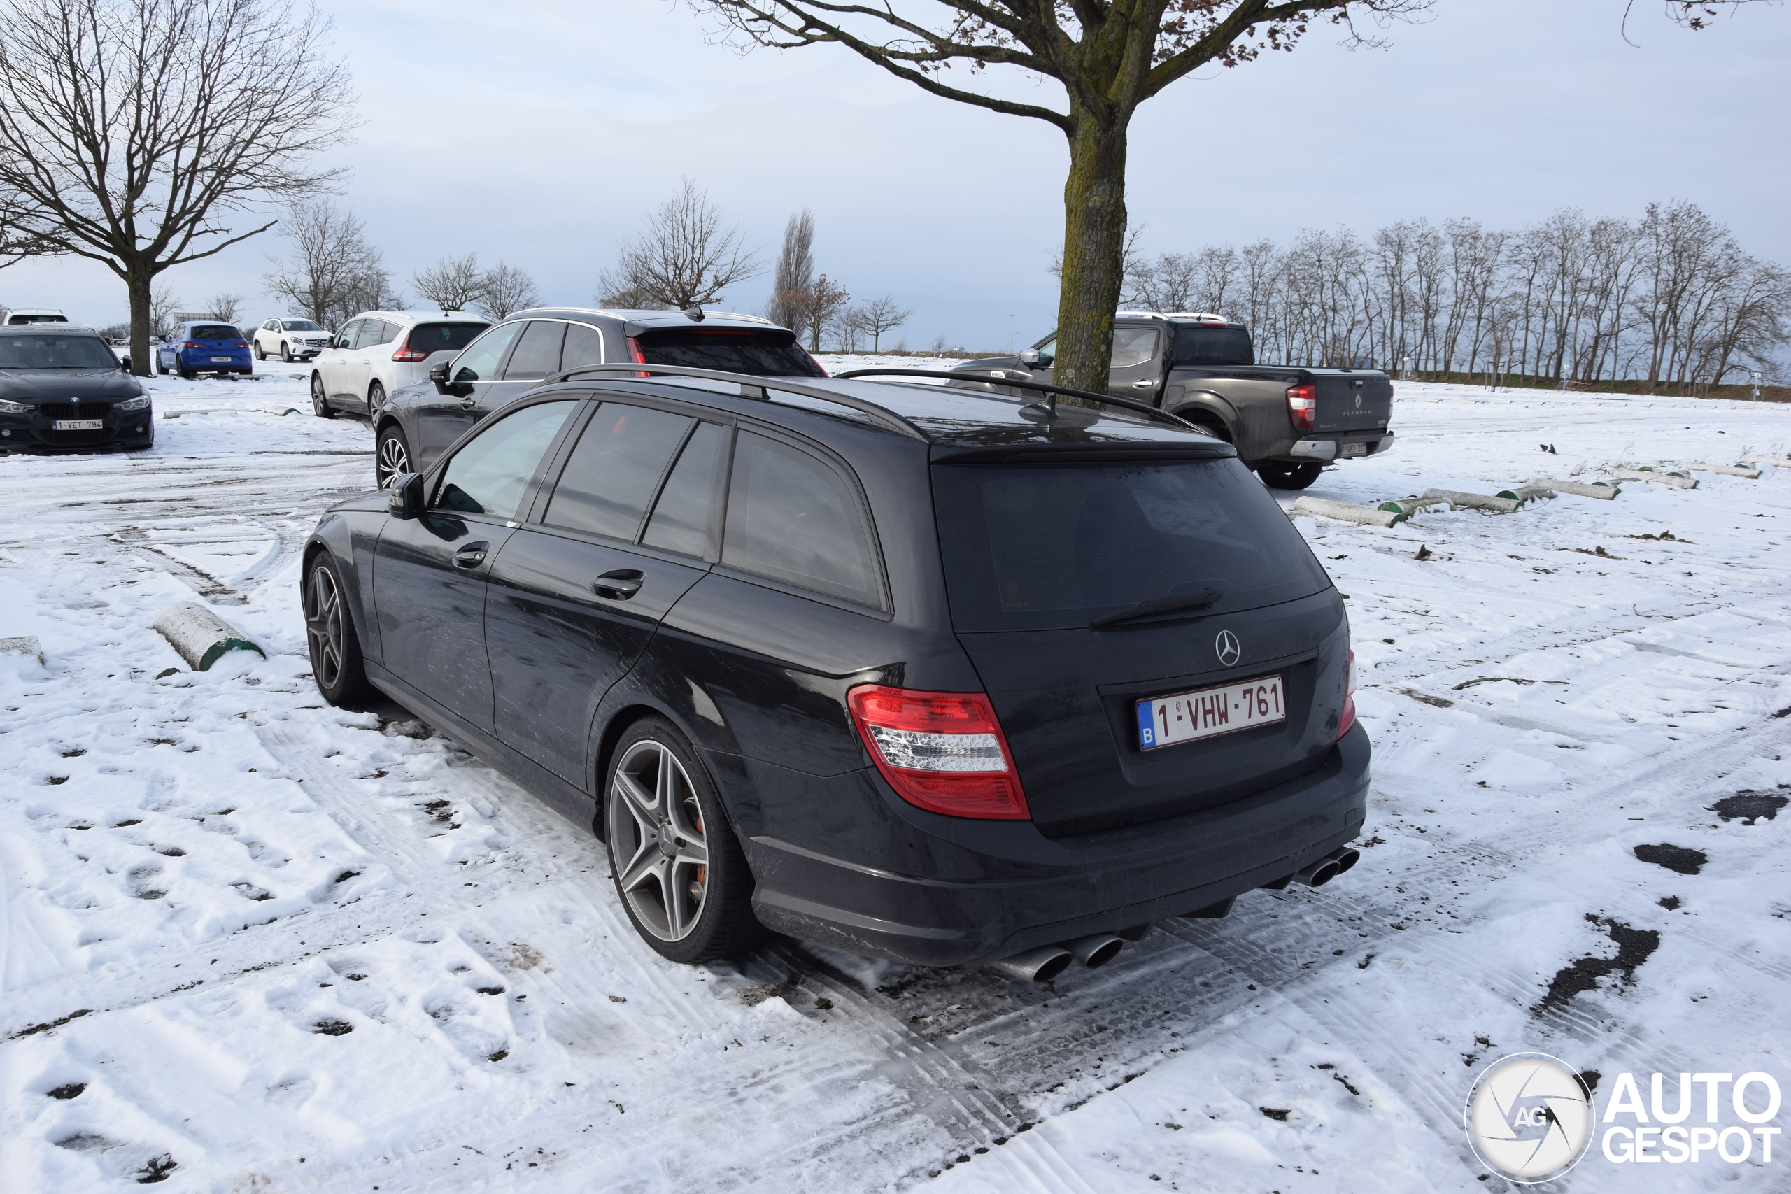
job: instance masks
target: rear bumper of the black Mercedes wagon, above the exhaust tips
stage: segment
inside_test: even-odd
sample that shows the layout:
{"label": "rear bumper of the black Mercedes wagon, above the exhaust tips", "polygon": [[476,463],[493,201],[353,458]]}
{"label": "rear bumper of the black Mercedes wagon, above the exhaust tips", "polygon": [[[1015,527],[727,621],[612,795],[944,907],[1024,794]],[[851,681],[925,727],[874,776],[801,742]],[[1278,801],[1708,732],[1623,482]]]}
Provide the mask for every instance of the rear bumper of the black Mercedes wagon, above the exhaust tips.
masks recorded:
{"label": "rear bumper of the black Mercedes wagon, above the exhaust tips", "polygon": [[[1368,736],[1352,729],[1295,780],[1178,818],[1075,838],[1032,822],[969,822],[903,804],[876,784],[908,840],[840,859],[750,838],[754,909],[767,927],[856,954],[967,965],[1178,917],[1273,883],[1354,838],[1367,816]],[[917,866],[919,859],[930,865]]]}

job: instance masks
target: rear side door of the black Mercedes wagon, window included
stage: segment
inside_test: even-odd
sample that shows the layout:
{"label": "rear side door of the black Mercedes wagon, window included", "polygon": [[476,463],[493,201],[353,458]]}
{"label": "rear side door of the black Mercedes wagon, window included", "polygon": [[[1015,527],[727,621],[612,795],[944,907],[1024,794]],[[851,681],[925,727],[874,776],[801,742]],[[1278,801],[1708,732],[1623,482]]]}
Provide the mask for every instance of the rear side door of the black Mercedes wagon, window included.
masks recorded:
{"label": "rear side door of the black Mercedes wagon, window included", "polygon": [[729,430],[677,410],[605,401],[537,521],[491,573],[485,653],[498,738],[586,786],[604,693],[715,557]]}

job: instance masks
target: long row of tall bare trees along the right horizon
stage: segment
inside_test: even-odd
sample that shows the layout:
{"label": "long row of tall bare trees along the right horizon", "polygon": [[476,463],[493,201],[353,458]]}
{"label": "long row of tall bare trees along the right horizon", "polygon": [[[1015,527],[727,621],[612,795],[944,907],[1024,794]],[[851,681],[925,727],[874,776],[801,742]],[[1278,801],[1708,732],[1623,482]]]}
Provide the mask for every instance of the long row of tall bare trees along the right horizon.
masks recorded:
{"label": "long row of tall bare trees along the right horizon", "polygon": [[1264,362],[1650,388],[1777,376],[1791,270],[1692,202],[1642,218],[1564,208],[1521,231],[1401,220],[1198,252],[1127,254],[1127,304],[1243,319]]}

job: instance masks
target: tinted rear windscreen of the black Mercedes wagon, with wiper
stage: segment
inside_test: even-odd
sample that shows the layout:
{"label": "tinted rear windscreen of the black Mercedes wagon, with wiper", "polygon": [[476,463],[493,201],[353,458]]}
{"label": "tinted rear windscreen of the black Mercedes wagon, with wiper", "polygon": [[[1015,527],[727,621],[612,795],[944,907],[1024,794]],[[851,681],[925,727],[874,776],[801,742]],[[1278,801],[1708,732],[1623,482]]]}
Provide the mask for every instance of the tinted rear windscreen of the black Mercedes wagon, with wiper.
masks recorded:
{"label": "tinted rear windscreen of the black Mercedes wagon, with wiper", "polygon": [[1238,460],[935,465],[933,508],[965,632],[1087,627],[1202,589],[1216,614],[1331,585]]}

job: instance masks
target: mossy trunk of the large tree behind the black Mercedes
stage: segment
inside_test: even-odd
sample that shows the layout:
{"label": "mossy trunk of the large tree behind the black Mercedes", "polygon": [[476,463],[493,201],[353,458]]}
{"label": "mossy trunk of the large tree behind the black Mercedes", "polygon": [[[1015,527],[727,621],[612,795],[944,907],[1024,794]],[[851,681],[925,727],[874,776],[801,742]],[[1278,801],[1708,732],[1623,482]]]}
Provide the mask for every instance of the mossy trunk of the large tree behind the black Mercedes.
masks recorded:
{"label": "mossy trunk of the large tree behind the black Mercedes", "polygon": [[1114,310],[1125,283],[1125,124],[1080,113],[1064,179],[1064,281],[1053,381],[1107,392]]}

